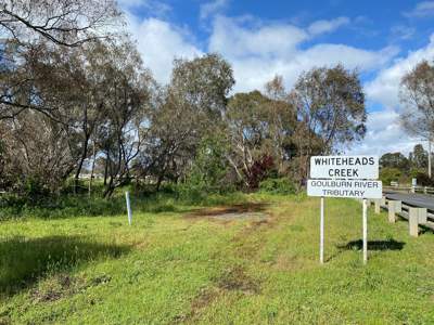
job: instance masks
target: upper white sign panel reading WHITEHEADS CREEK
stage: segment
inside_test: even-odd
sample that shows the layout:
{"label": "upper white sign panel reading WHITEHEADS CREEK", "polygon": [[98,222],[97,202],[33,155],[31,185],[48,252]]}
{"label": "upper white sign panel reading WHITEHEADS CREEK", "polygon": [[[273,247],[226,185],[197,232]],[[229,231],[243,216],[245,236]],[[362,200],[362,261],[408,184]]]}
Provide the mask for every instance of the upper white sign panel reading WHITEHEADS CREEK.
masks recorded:
{"label": "upper white sign panel reading WHITEHEADS CREEK", "polygon": [[314,156],[311,179],[378,179],[378,156]]}

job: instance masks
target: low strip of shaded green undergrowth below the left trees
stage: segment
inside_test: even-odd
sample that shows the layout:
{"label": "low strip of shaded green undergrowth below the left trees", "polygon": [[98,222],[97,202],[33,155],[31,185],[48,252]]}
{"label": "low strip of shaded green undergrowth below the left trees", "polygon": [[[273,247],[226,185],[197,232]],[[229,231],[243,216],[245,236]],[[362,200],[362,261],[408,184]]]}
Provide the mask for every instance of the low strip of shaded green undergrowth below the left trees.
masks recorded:
{"label": "low strip of shaded green undergrowth below the left trees", "polygon": [[[126,213],[125,191],[128,191],[128,187],[117,188],[108,200],[100,194],[104,190],[102,185],[99,185],[99,191],[94,191],[91,196],[72,195],[72,190],[73,187],[69,187],[68,192],[65,191],[58,196],[50,196],[47,193],[40,195],[37,188],[33,188],[31,196],[0,194],[0,220],[108,217]],[[227,195],[227,193],[207,193],[189,184],[165,184],[159,192],[155,192],[152,186],[131,190],[132,209],[140,213],[181,211],[186,206],[209,206],[244,199],[244,196],[233,188],[226,188],[226,192],[231,193]]]}

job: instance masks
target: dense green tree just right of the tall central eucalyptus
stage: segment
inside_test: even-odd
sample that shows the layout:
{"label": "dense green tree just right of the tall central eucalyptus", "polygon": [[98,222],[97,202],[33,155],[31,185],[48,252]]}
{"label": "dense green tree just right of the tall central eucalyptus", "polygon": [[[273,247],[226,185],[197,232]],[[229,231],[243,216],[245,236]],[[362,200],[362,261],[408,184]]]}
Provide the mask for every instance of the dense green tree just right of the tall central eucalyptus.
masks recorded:
{"label": "dense green tree just right of the tall central eucalyptus", "polygon": [[295,128],[294,109],[288,102],[259,91],[237,93],[229,101],[225,120],[231,142],[227,158],[245,186],[257,187],[272,169],[283,172]]}

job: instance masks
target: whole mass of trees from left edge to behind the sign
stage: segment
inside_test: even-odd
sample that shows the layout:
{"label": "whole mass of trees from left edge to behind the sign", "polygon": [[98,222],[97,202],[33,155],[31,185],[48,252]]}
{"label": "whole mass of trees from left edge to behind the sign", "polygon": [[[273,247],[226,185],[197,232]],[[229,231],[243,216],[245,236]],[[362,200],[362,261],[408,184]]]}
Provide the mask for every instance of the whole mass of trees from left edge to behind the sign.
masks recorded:
{"label": "whole mass of trees from left edge to behind the sign", "polygon": [[116,28],[116,1],[56,3],[0,10],[0,186],[9,193],[55,197],[74,178],[78,195],[86,173],[89,192],[95,173],[103,178],[106,198],[131,182],[180,184],[187,196],[253,191],[268,177],[302,183],[311,155],[365,135],[355,70],[319,67],[293,89],[276,76],[263,92],[231,94],[231,65],[208,53],[176,58],[158,84]]}

